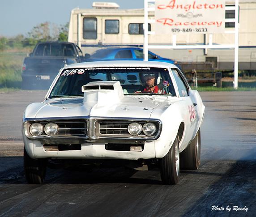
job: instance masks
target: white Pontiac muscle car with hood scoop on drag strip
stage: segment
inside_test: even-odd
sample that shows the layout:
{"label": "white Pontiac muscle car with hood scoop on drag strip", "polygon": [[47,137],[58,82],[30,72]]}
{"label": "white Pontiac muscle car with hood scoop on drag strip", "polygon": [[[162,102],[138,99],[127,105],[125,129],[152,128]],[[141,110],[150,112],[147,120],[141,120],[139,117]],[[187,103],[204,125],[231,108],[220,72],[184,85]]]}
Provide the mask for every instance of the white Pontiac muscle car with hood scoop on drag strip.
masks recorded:
{"label": "white Pontiac muscle car with hood scoop on drag strip", "polygon": [[[159,167],[175,184],[200,165],[205,106],[173,64],[102,61],[60,70],[43,102],[23,115],[24,169],[42,183],[47,165]],[[72,163],[71,163],[72,164]],[[72,164],[73,165],[73,164]]]}

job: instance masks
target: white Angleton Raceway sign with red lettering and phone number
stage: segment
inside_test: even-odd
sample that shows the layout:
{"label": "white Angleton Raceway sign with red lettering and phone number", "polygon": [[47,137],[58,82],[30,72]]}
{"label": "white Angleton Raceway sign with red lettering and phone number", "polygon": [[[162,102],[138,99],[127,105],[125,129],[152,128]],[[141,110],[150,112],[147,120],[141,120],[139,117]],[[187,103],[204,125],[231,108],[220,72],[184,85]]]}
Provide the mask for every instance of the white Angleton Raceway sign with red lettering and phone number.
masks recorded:
{"label": "white Angleton Raceway sign with red lettering and phone number", "polygon": [[156,34],[224,31],[225,0],[155,0]]}

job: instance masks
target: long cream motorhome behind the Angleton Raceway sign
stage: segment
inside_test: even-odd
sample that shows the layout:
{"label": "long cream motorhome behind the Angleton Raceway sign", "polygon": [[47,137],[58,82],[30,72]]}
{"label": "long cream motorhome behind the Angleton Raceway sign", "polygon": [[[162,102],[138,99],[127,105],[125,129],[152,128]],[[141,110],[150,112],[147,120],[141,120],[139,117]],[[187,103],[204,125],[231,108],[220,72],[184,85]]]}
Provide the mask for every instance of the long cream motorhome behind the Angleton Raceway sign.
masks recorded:
{"label": "long cream motorhome behind the Angleton Raceway sign", "polygon": [[[226,5],[226,19],[235,17],[235,1]],[[239,0],[239,69],[256,70],[256,0]],[[154,18],[154,12],[149,12]],[[86,53],[109,46],[143,46],[144,9],[119,9],[115,3],[93,3],[92,9],[73,9],[70,15],[68,41]],[[235,22],[226,20],[226,30],[234,30]],[[154,32],[154,23],[149,24]],[[213,44],[232,44],[234,34],[213,34]],[[205,44],[207,34],[179,34],[176,44]],[[172,35],[151,34],[149,44],[172,44]],[[152,49],[154,53],[179,62],[212,62],[213,68],[234,68],[233,49]]]}

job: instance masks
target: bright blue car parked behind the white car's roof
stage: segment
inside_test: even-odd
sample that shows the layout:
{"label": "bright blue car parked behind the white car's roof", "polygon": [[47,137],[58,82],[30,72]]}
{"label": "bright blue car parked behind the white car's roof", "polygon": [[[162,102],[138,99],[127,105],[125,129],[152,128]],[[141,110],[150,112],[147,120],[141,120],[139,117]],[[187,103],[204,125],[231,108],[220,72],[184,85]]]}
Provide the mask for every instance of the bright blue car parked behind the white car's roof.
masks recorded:
{"label": "bright blue car parked behind the white car's roof", "polygon": [[[85,54],[85,61],[102,60],[143,60],[143,49],[135,47],[110,47],[95,51],[92,55]],[[174,60],[163,58],[149,51],[149,61],[161,61],[175,64]]]}

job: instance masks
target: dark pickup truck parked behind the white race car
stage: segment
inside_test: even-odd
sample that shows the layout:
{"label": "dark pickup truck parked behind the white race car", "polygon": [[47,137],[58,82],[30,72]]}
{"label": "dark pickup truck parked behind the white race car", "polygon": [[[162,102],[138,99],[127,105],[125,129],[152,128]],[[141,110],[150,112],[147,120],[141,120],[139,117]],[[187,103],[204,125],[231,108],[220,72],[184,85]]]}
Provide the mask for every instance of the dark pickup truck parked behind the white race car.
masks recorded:
{"label": "dark pickup truck parked behind the white race car", "polygon": [[48,89],[61,68],[82,61],[82,51],[74,43],[38,43],[24,60],[22,88]]}

